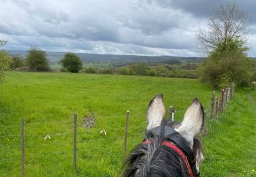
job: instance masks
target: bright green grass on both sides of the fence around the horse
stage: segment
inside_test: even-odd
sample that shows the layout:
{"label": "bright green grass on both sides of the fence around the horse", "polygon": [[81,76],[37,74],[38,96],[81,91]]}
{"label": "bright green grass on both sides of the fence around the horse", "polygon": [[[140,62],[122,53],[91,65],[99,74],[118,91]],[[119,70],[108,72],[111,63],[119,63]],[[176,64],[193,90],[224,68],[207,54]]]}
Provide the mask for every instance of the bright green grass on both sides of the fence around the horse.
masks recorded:
{"label": "bright green grass on both sides of the fence around the horse", "polygon": [[[126,110],[128,151],[143,140],[147,104],[163,93],[180,120],[194,97],[209,112],[212,90],[198,80],[143,76],[9,72],[0,87],[0,174],[20,176],[20,120],[25,117],[27,176],[118,176]],[[256,176],[256,93],[238,90],[218,119],[207,119],[201,176]],[[78,170],[72,170],[73,114],[78,114]],[[167,115],[168,116],[168,115]],[[83,127],[94,117],[94,128]],[[102,130],[106,131],[100,133]],[[46,135],[51,139],[44,140]]]}

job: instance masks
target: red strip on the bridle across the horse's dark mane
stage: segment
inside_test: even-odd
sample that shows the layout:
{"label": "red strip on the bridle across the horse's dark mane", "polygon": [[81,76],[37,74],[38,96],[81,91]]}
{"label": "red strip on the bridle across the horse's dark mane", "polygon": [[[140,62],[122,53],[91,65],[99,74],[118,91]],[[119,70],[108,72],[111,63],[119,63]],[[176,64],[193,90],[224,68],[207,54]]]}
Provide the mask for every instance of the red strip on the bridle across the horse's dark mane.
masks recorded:
{"label": "red strip on the bridle across the horse's dark mane", "polygon": [[[146,140],[145,142],[143,142],[143,144],[151,144],[152,143],[152,140]],[[194,174],[193,174],[193,171],[190,167],[190,164],[188,162],[188,159],[186,158],[186,155],[184,155],[184,153],[182,152],[182,150],[180,150],[180,148],[178,148],[177,146],[175,146],[174,144],[172,144],[171,142],[162,142],[162,145],[164,146],[168,146],[169,148],[175,150],[175,152],[177,152],[181,157],[182,159],[184,160],[184,163],[186,165],[186,169],[188,170],[188,174],[190,177],[194,177]]]}

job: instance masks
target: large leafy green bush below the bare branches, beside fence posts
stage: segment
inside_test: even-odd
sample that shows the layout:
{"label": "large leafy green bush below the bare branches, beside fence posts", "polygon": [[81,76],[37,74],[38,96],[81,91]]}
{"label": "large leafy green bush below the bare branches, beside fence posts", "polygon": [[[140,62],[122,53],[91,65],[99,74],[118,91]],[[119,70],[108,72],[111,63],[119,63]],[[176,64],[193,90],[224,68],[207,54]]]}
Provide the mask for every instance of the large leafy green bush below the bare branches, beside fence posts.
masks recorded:
{"label": "large leafy green bush below the bare branches, beside fence posts", "polygon": [[223,82],[227,81],[247,86],[251,77],[250,60],[246,57],[248,48],[242,45],[232,39],[220,44],[199,67],[201,80],[218,88],[223,88]]}

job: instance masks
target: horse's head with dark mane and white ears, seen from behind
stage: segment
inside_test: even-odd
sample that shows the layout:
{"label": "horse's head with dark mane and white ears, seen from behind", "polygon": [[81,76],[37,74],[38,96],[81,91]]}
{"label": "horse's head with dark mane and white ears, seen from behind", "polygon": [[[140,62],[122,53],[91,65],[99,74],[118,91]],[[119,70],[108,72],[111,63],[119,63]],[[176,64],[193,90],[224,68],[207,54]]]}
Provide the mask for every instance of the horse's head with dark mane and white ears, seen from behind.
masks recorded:
{"label": "horse's head with dark mane and white ears, seen from behind", "polygon": [[126,160],[123,176],[199,176],[203,160],[199,135],[204,111],[197,98],[186,110],[182,123],[165,120],[162,95],[156,95],[147,108],[147,133]]}

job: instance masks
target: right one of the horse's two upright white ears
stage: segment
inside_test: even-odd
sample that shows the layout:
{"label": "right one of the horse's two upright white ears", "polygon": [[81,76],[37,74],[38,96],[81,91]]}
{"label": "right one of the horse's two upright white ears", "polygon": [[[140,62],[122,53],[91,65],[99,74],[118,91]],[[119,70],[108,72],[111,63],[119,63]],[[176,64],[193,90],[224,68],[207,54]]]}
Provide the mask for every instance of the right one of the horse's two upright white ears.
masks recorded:
{"label": "right one of the horse's two upright white ears", "polygon": [[193,103],[186,110],[184,119],[180,127],[176,129],[190,144],[190,148],[193,148],[193,140],[196,135],[199,135],[203,130],[204,112],[203,106],[197,98],[193,100]]}

